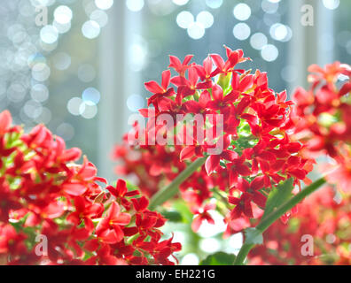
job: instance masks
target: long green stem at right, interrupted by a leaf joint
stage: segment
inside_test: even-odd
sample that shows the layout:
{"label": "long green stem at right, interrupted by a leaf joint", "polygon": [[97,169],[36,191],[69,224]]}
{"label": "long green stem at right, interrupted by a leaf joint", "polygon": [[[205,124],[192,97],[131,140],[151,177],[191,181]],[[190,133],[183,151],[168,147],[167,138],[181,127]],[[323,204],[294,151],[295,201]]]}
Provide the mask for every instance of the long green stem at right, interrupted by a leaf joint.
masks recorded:
{"label": "long green stem at right, interrupted by a leaf joint", "polygon": [[[280,218],[285,212],[291,210],[296,204],[300,203],[306,196],[311,195],[315,192],[319,187],[322,187],[326,180],[321,178],[316,180],[314,183],[309,185],[300,191],[299,194],[294,195],[289,201],[283,203],[281,206],[277,208],[277,210],[272,211],[267,217],[261,219],[261,222],[256,226],[256,229],[261,233],[266,231],[269,226],[271,226],[278,218]],[[253,244],[244,243],[241,249],[238,252],[238,256],[234,261],[234,265],[242,265],[246,259],[246,256],[253,249]]]}

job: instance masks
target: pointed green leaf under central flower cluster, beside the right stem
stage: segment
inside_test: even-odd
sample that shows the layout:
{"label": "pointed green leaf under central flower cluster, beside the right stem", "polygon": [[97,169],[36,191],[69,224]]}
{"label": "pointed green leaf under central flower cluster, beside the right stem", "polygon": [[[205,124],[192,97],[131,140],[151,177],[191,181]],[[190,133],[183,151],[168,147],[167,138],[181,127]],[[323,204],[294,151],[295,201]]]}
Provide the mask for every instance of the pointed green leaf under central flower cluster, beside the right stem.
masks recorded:
{"label": "pointed green leaf under central flower cluster, beside the right stem", "polygon": [[277,209],[279,205],[285,203],[288,199],[290,199],[292,197],[292,188],[292,178],[285,180],[283,183],[277,185],[277,187],[273,187],[269,193],[266,208],[264,209],[264,213],[261,219],[266,218],[269,213]]}

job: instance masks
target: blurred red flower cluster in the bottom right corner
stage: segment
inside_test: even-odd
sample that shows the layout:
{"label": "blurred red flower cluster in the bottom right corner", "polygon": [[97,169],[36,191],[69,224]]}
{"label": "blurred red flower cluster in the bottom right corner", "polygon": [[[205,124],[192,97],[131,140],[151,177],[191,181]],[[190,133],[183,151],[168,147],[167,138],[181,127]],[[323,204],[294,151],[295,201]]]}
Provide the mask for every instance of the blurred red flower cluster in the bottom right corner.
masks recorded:
{"label": "blurred red flower cluster in the bottom right corner", "polygon": [[351,264],[351,195],[335,196],[326,186],[299,205],[288,225],[275,222],[249,264]]}

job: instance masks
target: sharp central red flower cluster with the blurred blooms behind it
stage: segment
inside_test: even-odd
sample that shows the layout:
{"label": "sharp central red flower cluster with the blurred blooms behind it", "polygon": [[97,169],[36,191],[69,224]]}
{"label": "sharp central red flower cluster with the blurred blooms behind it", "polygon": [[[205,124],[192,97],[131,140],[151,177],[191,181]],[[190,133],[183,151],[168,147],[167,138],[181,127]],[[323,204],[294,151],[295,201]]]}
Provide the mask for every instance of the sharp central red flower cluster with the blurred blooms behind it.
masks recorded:
{"label": "sharp central red flower cluster with the blurred blooms behind it", "polygon": [[[204,166],[180,187],[183,198],[193,211],[207,209],[210,198],[217,198],[223,204],[221,212],[226,216],[228,233],[235,233],[243,227],[238,223],[247,224],[254,218],[253,208],[264,209],[269,190],[280,181],[292,178],[295,185],[300,185],[300,180],[308,183],[306,175],[312,162],[300,156],[302,145],[289,137],[292,102],[286,101],[285,91],[276,94],[270,89],[266,73],[238,69],[238,63],[249,59],[242,50],[226,47],[226,54],[226,60],[212,54],[203,65],[191,63],[192,56],[185,57],[183,63],[171,56],[169,67],[175,70],[175,76],[167,70],[162,73],[161,86],[155,81],[145,83],[152,96],[149,108],[140,111],[149,118],[146,132],[156,129],[160,136],[169,130],[169,125],[154,126],[160,115],[202,115],[203,128],[190,130],[203,131],[202,136],[212,131],[212,141],[198,140],[194,134],[191,145],[138,146],[130,145],[126,135],[114,157],[122,160],[117,172],[134,173],[147,195],[157,192],[187,164],[207,157]],[[219,125],[207,119],[207,114],[222,115],[222,131],[215,130]],[[135,137],[143,134],[138,125],[135,132]],[[175,140],[178,134],[183,130],[175,134]],[[220,152],[210,150],[220,143]],[[208,215],[195,219],[196,227],[199,219],[211,222]]]}

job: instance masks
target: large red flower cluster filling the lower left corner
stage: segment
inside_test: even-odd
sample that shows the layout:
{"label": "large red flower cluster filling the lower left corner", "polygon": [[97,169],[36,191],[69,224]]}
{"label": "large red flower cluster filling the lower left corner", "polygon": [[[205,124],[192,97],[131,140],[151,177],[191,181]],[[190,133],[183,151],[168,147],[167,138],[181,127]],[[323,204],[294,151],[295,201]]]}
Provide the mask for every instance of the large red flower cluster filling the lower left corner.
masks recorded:
{"label": "large red flower cluster filling the lower left corner", "polygon": [[[0,114],[0,264],[174,264],[166,219],[126,182],[107,186],[80,149]],[[36,241],[40,239],[40,242]],[[43,241],[42,241],[43,240]]]}

